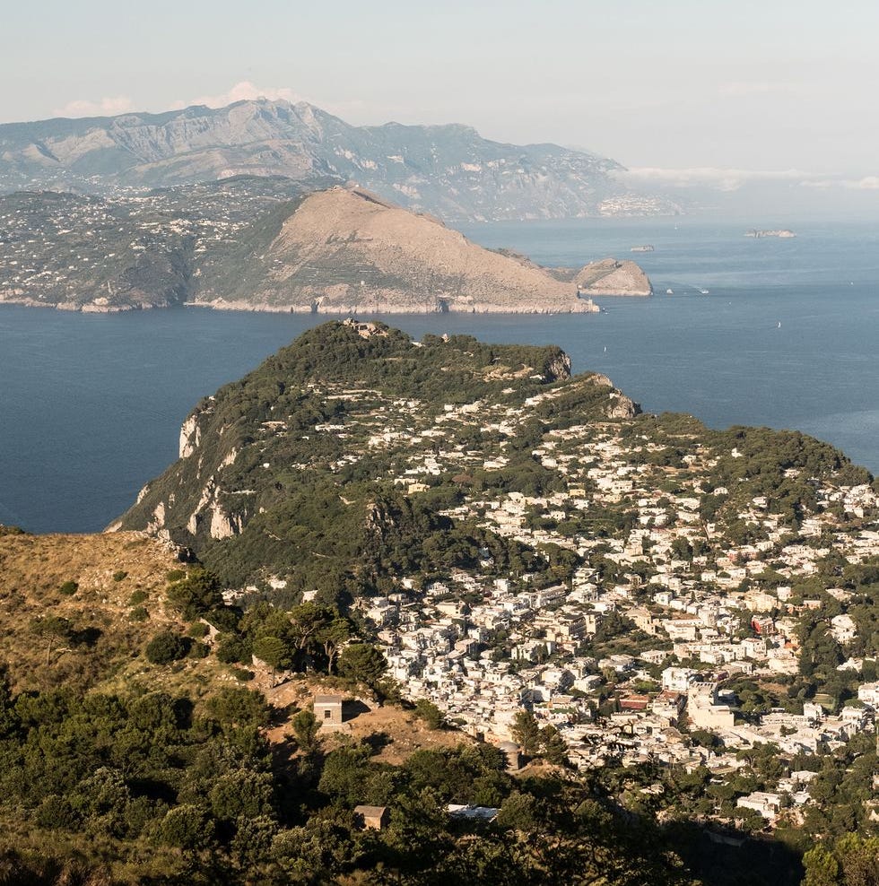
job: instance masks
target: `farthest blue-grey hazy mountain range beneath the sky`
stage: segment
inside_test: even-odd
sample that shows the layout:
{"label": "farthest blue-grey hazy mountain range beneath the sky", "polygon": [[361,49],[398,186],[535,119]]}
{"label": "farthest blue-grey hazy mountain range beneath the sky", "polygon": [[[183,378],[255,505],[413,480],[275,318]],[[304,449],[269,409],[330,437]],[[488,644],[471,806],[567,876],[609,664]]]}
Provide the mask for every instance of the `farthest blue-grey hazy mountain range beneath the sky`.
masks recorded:
{"label": "farthest blue-grey hazy mountain range beneath the sky", "polygon": [[492,142],[470,126],[350,126],[304,101],[0,126],[0,193],[107,194],[256,175],[353,181],[449,222],[677,211],[623,185],[614,178],[622,171],[555,144]]}

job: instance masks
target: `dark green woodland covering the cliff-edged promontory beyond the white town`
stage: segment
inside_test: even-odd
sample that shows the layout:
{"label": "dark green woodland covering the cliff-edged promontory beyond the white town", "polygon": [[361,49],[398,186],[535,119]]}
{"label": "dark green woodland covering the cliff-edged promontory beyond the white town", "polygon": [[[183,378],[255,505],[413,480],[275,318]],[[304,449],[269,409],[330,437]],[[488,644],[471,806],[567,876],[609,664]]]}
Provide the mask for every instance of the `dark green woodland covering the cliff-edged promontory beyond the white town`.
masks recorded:
{"label": "dark green woodland covering the cliff-edged promontory beyond the white town", "polygon": [[[415,426],[431,429],[478,398],[517,410],[557,379],[567,385],[567,366],[554,347],[469,336],[427,336],[416,346],[386,327],[363,337],[351,324],[319,326],[196,407],[187,420],[193,455],[152,482],[122,525],[154,524],[161,503],[162,526],[227,584],[274,574],[293,594],[317,588],[331,604],[399,573],[475,566],[486,549],[500,569],[548,569],[544,555],[441,513],[470,483],[548,482],[528,450],[530,425],[500,472],[413,475],[431,488],[411,497],[394,481],[414,451],[429,455],[441,442],[469,458],[466,450],[483,446],[480,431],[457,422],[437,425],[437,436],[419,437]],[[582,378],[560,389],[559,405],[588,421],[609,391]],[[385,439],[392,427],[396,436]],[[228,527],[239,532],[216,537]]]}

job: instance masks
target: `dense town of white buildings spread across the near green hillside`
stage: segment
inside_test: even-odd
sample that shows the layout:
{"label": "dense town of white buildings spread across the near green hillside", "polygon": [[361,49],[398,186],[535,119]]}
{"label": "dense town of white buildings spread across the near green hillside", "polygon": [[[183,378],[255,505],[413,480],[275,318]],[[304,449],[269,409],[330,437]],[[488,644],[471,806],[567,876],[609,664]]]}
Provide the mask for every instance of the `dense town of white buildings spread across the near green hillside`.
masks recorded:
{"label": "dense town of white buildings spread across the near green hillside", "polygon": [[[526,409],[554,395],[536,395]],[[619,396],[612,391],[608,402]],[[387,413],[399,427],[391,421],[367,445],[410,447],[396,478],[410,494],[429,490],[431,478],[449,470],[502,469],[509,462],[503,436],[526,415],[520,406],[447,404],[426,427],[419,426],[414,401],[398,401]],[[478,450],[449,445],[466,428],[483,434]],[[703,485],[717,453],[697,445],[676,466],[650,464],[648,456],[664,445],[647,433],[623,440],[623,428],[608,421],[545,434],[531,454],[563,479],[560,491],[471,488],[448,509],[451,517],[478,521],[537,550],[570,551],[580,564],[600,554],[615,569],[602,574],[579,565],[548,584],[527,572],[499,574],[486,550],[478,570],[428,581],[403,577],[396,593],[360,602],[405,694],[430,700],[448,722],[497,744],[515,740],[518,715],[531,712],[539,725],[558,730],[579,769],[615,760],[624,767],[704,768],[723,781],[746,768],[747,751],[760,745],[800,759],[873,736],[875,648],[838,665],[858,679],[857,694],[843,704],[820,692],[791,703],[785,690],[802,673],[805,617],[826,621],[840,650],[857,639],[857,623],[846,612],[850,591],[826,586],[813,595],[805,588],[828,557],[875,562],[874,489],[814,484],[817,507],[796,531],[765,496],[752,496],[736,515],[749,532],[734,541],[728,519],[721,525],[701,512],[706,496],[729,497],[726,488]],[[350,434],[352,426],[318,430]],[[497,446],[486,447],[486,437],[499,432]],[[633,464],[633,451],[645,456],[640,464]],[[734,449],[731,457],[741,456]],[[795,479],[798,472],[788,473]],[[613,534],[589,532],[590,515],[609,511],[624,511],[629,524]],[[832,614],[825,612],[828,598],[838,604]],[[861,679],[863,673],[874,679]],[[743,704],[735,692],[741,681],[788,703]],[[705,734],[713,739],[704,741]],[[805,769],[786,773],[771,791],[739,796],[736,805],[770,823],[782,811],[789,818],[812,802],[814,776]]]}

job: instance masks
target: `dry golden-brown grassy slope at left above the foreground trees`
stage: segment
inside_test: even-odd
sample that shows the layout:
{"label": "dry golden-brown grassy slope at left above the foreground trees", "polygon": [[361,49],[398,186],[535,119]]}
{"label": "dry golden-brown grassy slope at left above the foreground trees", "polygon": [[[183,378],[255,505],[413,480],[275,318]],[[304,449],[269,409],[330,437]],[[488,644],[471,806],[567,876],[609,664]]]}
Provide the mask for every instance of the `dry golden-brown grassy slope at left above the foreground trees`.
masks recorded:
{"label": "dry golden-brown grassy slope at left above the foreground trees", "polygon": [[[411,711],[355,699],[339,679],[300,675],[274,685],[274,673],[255,667],[241,683],[238,665],[215,656],[151,665],[146,643],[161,630],[185,632],[165,606],[168,574],[181,569],[173,552],[140,533],[30,535],[0,531],[0,664],[9,665],[14,691],[183,691],[193,699],[221,686],[263,691],[275,708],[268,737],[285,745],[290,719],[310,708],[316,692],[341,692],[345,725],[322,734],[325,751],[338,743],[370,740],[379,760],[399,763],[422,748],[454,747],[472,741],[455,730],[431,730]],[[75,582],[74,593],[65,583]],[[69,591],[70,586],[67,586]],[[73,635],[59,638],[41,625],[51,618],[70,622]]]}

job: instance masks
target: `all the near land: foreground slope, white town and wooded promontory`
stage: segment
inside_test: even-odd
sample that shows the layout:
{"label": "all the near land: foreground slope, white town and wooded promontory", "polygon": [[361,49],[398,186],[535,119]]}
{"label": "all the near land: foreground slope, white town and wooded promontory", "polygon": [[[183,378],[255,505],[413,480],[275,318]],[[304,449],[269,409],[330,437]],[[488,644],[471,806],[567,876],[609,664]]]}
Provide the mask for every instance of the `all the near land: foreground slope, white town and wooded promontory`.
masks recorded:
{"label": "all the near land: foreground slope, white town and wooded promontory", "polygon": [[877,882],[877,519],[552,345],[318,326],[118,531],[0,529],[0,883]]}

